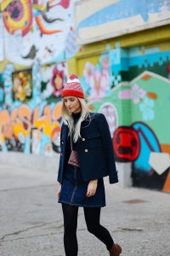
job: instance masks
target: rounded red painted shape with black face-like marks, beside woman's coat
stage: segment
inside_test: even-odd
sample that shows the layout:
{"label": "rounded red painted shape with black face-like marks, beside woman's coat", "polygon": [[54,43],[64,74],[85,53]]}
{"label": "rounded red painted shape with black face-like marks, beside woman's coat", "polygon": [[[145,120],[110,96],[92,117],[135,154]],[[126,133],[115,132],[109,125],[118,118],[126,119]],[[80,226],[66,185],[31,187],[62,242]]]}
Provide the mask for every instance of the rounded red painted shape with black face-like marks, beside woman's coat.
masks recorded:
{"label": "rounded red painted shape with black face-like marks, beside woman's coat", "polygon": [[128,162],[138,158],[140,150],[139,135],[132,127],[118,127],[114,132],[112,141],[116,160]]}

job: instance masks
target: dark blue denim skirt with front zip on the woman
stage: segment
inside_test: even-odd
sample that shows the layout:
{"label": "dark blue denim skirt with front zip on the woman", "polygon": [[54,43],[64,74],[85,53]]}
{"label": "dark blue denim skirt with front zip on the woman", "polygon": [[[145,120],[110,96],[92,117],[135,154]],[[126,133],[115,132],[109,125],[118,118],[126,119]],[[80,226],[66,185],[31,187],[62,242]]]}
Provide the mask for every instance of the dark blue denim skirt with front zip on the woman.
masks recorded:
{"label": "dark blue denim skirt with front zip on the woman", "polygon": [[75,207],[105,207],[105,186],[103,178],[98,179],[96,193],[90,197],[86,196],[88,183],[83,181],[80,168],[68,165],[58,202]]}

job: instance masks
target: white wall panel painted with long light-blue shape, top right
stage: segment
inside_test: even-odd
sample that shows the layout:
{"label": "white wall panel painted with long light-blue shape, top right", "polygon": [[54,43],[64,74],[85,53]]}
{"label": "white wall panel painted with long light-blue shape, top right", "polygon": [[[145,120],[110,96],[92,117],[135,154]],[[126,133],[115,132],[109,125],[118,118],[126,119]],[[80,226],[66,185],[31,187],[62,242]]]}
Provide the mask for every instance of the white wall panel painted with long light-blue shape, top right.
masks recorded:
{"label": "white wall panel painted with long light-blue shape, top right", "polygon": [[[83,15],[80,15],[83,9]],[[76,3],[77,43],[88,44],[169,24],[169,0],[98,0]]]}

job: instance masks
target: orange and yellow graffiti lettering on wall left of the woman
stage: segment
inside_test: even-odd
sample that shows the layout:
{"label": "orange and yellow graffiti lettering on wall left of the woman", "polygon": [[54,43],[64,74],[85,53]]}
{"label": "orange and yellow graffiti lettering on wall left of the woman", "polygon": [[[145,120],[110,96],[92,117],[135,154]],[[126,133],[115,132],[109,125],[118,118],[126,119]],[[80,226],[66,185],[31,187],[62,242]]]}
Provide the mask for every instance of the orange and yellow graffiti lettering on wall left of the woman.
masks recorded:
{"label": "orange and yellow graffiti lettering on wall left of the woman", "polygon": [[3,143],[5,139],[13,136],[18,138],[19,134],[26,138],[31,135],[31,129],[36,128],[51,138],[54,129],[58,128],[60,131],[60,119],[61,102],[58,102],[52,110],[49,105],[45,106],[42,113],[39,106],[31,113],[31,108],[26,104],[14,108],[11,113],[3,110],[0,112],[0,137]]}

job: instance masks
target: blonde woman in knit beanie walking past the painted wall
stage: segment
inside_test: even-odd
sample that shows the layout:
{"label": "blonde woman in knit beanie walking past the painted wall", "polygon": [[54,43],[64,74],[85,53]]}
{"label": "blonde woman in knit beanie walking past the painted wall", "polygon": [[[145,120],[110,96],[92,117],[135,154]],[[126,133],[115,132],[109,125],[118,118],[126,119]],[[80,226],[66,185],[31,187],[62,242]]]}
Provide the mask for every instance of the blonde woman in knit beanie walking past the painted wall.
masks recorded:
{"label": "blonde woman in knit beanie walking past the painted wall", "polygon": [[105,207],[103,177],[118,182],[109,126],[104,114],[89,113],[77,75],[70,76],[62,97],[57,196],[64,216],[65,255],[77,256],[77,213],[83,207],[88,231],[105,243],[111,256],[119,256],[122,248],[99,224]]}

